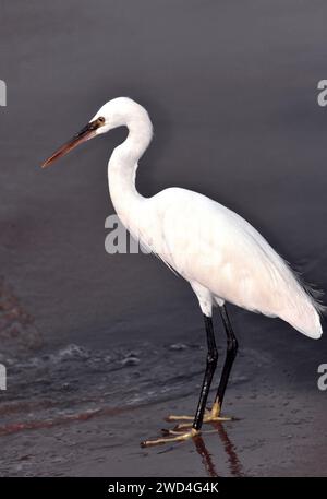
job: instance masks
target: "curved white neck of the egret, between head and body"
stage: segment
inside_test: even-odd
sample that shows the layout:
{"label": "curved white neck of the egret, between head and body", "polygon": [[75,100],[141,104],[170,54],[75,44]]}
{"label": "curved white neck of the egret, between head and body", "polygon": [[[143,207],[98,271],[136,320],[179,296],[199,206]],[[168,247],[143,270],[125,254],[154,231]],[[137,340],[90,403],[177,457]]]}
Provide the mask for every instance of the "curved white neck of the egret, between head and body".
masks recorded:
{"label": "curved white neck of the egret, between head and body", "polygon": [[109,159],[108,181],[114,210],[126,228],[133,233],[137,214],[145,201],[135,187],[137,162],[152,141],[153,126],[143,108],[136,116],[130,119],[126,117],[125,124],[129,135],[116,147]]}

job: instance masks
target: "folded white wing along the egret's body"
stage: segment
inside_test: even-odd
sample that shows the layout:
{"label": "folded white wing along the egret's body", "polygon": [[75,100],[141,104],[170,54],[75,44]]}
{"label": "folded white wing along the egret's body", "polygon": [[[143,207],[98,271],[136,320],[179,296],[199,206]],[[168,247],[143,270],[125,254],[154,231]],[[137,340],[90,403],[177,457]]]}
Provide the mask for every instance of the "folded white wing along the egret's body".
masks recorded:
{"label": "folded white wing along the egret's body", "polygon": [[319,308],[288,263],[237,213],[184,189],[167,189],[153,199],[157,252],[187,281],[247,310],[296,316],[293,323],[305,310]]}

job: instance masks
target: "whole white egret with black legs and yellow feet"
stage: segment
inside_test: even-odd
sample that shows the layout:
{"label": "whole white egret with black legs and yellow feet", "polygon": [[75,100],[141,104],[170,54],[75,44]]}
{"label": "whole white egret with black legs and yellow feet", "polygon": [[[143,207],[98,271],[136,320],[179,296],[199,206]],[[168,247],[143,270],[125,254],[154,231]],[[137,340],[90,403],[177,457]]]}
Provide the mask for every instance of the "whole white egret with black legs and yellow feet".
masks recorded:
{"label": "whole white egret with black legs and yellow feet", "polygon": [[[208,354],[201,396],[194,418],[170,416],[181,424],[177,431],[145,444],[178,441],[199,433],[203,423],[226,420],[221,405],[238,351],[225,302],[246,310],[279,317],[312,338],[319,338],[318,304],[289,265],[244,218],[206,198],[180,188],[169,188],[152,198],[135,188],[138,159],[148,147],[153,126],[147,111],[128,97],[105,104],[86,127],[43,165],[46,167],[77,144],[117,127],[128,127],[125,141],[114,148],[108,164],[113,206],[130,233],[191,284],[204,314]],[[227,335],[227,354],[211,411],[207,397],[217,366],[213,307],[218,306]],[[185,429],[183,429],[185,428]]]}

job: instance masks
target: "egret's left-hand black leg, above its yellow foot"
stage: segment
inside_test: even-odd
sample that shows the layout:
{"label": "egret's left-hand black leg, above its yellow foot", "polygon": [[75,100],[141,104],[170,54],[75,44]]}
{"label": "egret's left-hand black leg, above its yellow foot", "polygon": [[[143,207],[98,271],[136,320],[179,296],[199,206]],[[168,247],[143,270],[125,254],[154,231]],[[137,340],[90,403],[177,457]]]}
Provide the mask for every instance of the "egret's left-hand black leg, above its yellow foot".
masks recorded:
{"label": "egret's left-hand black leg, above its yellow foot", "polygon": [[201,389],[201,395],[197,404],[197,409],[195,413],[193,428],[199,430],[203,423],[203,417],[206,408],[206,403],[210,390],[210,384],[213,381],[214,372],[217,367],[218,352],[215,342],[214,335],[214,325],[213,319],[210,317],[204,316],[206,333],[207,333],[207,344],[208,344],[208,354],[207,354],[207,365],[206,371],[203,380],[203,385]]}

